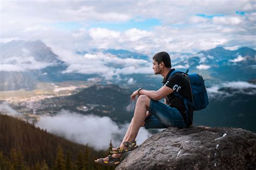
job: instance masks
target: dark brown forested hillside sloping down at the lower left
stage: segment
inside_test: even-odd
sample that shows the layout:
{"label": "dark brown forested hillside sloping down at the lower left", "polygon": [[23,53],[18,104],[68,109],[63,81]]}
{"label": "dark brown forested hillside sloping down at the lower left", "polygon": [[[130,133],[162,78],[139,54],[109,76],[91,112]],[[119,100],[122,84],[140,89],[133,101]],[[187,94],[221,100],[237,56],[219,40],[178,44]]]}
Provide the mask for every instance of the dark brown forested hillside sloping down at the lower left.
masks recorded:
{"label": "dark brown forested hillside sloping down at the lower left", "polygon": [[105,154],[0,114],[0,169],[104,169],[93,160]]}

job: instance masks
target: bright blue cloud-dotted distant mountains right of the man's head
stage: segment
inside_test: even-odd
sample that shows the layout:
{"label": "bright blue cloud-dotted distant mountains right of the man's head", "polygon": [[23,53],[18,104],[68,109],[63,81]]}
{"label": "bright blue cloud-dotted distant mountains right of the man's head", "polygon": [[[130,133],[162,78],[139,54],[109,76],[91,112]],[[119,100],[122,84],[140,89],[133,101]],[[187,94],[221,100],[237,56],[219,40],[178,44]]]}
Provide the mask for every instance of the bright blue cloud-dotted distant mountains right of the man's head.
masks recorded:
{"label": "bright blue cloud-dotted distant mountains right of the man's head", "polygon": [[[181,59],[180,59],[181,58]],[[223,47],[200,51],[193,55],[175,58],[173,66],[184,66],[190,73],[199,73],[205,77],[207,86],[219,81],[248,81],[255,79],[256,51],[248,47],[228,50]]]}

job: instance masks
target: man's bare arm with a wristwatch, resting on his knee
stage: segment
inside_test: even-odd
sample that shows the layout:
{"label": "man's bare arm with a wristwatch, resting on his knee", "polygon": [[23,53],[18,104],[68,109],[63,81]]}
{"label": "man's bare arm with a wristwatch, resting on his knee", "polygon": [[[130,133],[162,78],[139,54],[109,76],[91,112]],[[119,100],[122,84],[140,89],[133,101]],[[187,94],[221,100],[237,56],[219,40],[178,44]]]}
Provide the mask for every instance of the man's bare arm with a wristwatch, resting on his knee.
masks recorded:
{"label": "man's bare arm with a wristwatch, resting on his knee", "polygon": [[142,90],[139,90],[139,93],[138,93],[138,90],[134,91],[133,94],[131,95],[131,99],[135,100],[136,95],[138,95],[138,96],[146,95],[149,98],[151,98],[152,100],[158,101],[171,93],[173,93],[173,89],[171,89],[170,87],[166,87],[166,86],[161,87],[157,91],[142,89]]}

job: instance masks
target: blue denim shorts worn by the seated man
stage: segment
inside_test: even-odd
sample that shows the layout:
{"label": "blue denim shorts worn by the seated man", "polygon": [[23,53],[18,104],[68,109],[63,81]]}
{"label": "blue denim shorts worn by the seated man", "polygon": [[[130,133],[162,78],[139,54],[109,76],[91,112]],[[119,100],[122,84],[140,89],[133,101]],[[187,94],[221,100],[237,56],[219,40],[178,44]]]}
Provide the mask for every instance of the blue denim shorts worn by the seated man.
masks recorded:
{"label": "blue denim shorts worn by the seated man", "polygon": [[170,126],[186,128],[184,119],[176,108],[159,101],[150,101],[150,116],[145,119],[146,129],[163,129]]}

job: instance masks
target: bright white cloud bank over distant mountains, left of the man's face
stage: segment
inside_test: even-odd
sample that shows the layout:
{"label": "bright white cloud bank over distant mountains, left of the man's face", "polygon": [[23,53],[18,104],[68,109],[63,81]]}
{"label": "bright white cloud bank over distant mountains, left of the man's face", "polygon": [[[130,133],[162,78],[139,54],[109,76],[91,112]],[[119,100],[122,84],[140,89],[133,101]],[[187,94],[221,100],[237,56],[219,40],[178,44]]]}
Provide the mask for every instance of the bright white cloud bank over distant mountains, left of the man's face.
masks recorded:
{"label": "bright white cloud bank over distant mountains, left of the man's face", "polygon": [[[78,54],[70,54],[63,51],[57,51],[57,54],[63,58],[63,61],[69,64],[63,73],[83,73],[83,74],[99,74],[106,80],[111,80],[113,76],[129,75],[129,74],[151,74],[151,63],[140,59],[120,59],[112,54],[103,54],[102,52],[87,53],[84,56]],[[63,56],[64,55],[64,56]],[[73,56],[70,60],[70,56]],[[95,69],[99,68],[99,69]],[[130,80],[132,83],[132,80]]]}

